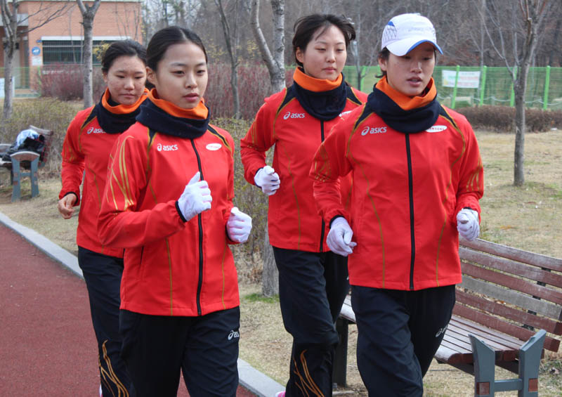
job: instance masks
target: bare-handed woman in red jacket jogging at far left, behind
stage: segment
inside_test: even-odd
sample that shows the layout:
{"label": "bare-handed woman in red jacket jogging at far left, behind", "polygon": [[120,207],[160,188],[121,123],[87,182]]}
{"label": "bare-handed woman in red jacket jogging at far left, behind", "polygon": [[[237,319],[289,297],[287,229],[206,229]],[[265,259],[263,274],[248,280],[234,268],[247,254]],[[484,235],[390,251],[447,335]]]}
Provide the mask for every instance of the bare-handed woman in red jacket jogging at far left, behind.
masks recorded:
{"label": "bare-handed woman in red jacket jogging at far left, behind", "polygon": [[[115,41],[103,53],[107,89],[100,102],[78,112],[63,143],[63,188],[58,210],[70,219],[78,215],[78,263],[86,281],[93,329],[98,339],[103,396],[128,396],[131,381],[119,356],[119,284],[123,249],[108,248],[98,238],[98,211],[107,179],[110,149],[138,115],[146,99],[146,50],[136,41]],[[84,188],[80,200],[80,185]]]}

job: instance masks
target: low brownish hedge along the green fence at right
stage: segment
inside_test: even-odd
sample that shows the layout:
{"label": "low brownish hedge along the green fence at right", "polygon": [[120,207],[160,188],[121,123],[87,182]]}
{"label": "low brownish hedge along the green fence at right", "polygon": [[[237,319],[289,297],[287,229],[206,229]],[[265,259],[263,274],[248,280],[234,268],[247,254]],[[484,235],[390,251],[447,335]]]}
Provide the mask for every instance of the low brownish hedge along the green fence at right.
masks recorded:
{"label": "low brownish hedge along the green fence at right", "polygon": [[[486,129],[497,132],[515,131],[515,108],[509,106],[481,106],[460,108],[473,129]],[[528,132],[549,131],[562,127],[562,110],[525,110],[525,124]]]}

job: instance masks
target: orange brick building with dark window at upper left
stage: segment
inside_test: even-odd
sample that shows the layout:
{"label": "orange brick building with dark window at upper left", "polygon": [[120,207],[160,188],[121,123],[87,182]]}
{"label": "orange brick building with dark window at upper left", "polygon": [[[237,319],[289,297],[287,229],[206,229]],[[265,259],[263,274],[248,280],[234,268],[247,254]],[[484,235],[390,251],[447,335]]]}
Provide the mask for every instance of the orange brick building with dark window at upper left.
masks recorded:
{"label": "orange brick building with dark window at upper left", "polygon": [[[121,39],[142,43],[142,0],[101,0],[93,21],[93,46]],[[8,3],[10,1],[8,0]],[[63,9],[60,16],[28,33],[22,33],[14,59],[15,88],[30,85],[37,68],[59,63],[81,63],[84,32],[82,15],[75,1],[20,0],[19,30],[25,31],[41,24],[47,15]],[[91,4],[91,3],[86,3]],[[4,41],[4,27],[0,38]],[[94,63],[97,60],[94,59]],[[0,51],[0,67],[4,66],[4,51]]]}

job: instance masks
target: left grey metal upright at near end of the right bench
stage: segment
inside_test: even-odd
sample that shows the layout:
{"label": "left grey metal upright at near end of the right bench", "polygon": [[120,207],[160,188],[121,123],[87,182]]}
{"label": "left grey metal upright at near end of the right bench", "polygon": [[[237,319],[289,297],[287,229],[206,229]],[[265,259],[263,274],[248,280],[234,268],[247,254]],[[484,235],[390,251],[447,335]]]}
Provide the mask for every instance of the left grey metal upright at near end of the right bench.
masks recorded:
{"label": "left grey metal upright at near end of the right bench", "polygon": [[493,396],[495,352],[474,335],[469,335],[474,357],[474,396]]}

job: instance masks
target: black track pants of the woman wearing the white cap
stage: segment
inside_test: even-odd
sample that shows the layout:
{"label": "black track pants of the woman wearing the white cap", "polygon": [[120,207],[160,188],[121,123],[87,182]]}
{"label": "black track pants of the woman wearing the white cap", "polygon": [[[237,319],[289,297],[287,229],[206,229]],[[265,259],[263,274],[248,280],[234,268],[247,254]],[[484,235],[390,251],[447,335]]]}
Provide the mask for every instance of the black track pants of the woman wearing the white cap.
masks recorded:
{"label": "black track pants of the woman wearing the white cap", "polygon": [[369,396],[422,396],[455,306],[455,285],[397,291],[351,287],[357,363]]}

